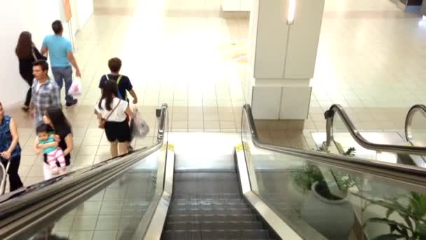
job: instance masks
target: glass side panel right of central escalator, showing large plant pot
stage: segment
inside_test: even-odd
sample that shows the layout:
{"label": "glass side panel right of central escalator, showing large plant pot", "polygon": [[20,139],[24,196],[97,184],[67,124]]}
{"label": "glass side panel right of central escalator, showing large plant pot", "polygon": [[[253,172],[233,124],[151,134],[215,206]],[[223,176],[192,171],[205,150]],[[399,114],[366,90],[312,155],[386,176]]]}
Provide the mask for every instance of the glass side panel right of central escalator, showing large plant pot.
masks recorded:
{"label": "glass side panel right of central escalator, showing large plant pot", "polygon": [[242,132],[254,192],[303,239],[425,239],[425,189],[259,149]]}

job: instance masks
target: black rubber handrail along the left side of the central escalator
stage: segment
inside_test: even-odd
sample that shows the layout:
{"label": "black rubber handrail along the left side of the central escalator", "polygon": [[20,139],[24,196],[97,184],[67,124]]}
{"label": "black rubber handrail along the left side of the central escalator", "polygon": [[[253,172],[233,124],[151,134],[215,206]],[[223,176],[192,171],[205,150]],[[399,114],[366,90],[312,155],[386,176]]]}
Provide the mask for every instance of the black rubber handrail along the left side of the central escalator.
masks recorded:
{"label": "black rubber handrail along the left side of the central escalator", "polygon": [[[60,175],[57,178],[39,182],[36,185],[32,185],[21,191],[11,192],[0,196],[0,219],[6,217],[8,214],[18,212],[20,209],[32,206],[36,202],[41,202],[44,199],[48,199],[49,196],[60,191],[60,189],[67,189],[73,185],[81,182],[88,181],[95,177],[95,175],[102,175],[104,171],[109,171],[111,168],[119,168],[125,166],[130,161],[135,161],[135,155],[142,156],[144,158],[147,153],[155,152],[163,146],[164,135],[167,133],[167,104],[163,104],[161,107],[160,122],[158,124],[158,137],[156,145],[149,148],[139,149],[130,154],[118,156],[113,159],[101,161],[98,164],[73,171],[64,175]],[[116,161],[120,159],[120,161]],[[74,172],[81,172],[73,175]],[[96,173],[96,174],[95,174]],[[105,182],[107,183],[107,182]],[[39,187],[34,187],[39,186]],[[13,201],[16,200],[16,201]]]}

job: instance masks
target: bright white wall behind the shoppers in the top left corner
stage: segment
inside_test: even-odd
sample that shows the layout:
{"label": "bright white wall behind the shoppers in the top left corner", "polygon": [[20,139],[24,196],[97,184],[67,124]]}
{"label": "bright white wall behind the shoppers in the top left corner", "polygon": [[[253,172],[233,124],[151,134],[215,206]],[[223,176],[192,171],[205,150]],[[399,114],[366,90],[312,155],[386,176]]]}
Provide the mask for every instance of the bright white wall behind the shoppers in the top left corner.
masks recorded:
{"label": "bright white wall behind the shoppers in the top left corner", "polygon": [[[74,2],[75,1],[75,2]],[[93,13],[92,0],[71,0],[74,4],[73,15],[75,32],[78,27],[83,27]],[[15,47],[20,32],[29,31],[37,48],[41,48],[44,36],[53,34],[51,24],[54,20],[64,21],[62,0],[17,0],[8,1],[0,9],[0,101],[5,107],[22,104],[28,90],[27,83],[19,74],[19,62],[15,56]],[[64,24],[64,36],[69,38],[67,23]]]}

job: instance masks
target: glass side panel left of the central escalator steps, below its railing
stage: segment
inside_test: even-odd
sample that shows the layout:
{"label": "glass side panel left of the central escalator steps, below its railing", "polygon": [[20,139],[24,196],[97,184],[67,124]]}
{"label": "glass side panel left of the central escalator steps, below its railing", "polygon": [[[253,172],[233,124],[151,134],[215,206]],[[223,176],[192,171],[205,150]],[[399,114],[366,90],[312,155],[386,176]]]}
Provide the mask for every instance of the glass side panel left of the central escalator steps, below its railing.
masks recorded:
{"label": "glass side panel left of the central escalator steps, below its railing", "polygon": [[156,194],[159,156],[155,152],[139,161],[31,239],[131,239]]}

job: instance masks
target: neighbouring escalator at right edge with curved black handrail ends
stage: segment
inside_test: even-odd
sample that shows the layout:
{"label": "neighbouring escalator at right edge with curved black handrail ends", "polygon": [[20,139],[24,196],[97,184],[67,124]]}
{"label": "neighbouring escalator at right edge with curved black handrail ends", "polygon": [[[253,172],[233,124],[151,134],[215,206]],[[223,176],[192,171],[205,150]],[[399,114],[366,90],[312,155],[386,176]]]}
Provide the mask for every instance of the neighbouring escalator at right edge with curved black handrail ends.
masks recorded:
{"label": "neighbouring escalator at right edge with curved black handrail ends", "polygon": [[[365,158],[426,168],[425,105],[414,105],[406,114],[404,140],[399,133],[360,133],[341,105],[332,105],[324,116],[327,120],[324,149],[334,147],[336,153],[345,154],[349,147],[343,145],[351,145],[354,149],[363,149],[364,153],[359,155]],[[364,135],[370,135],[374,141],[367,140]]]}

